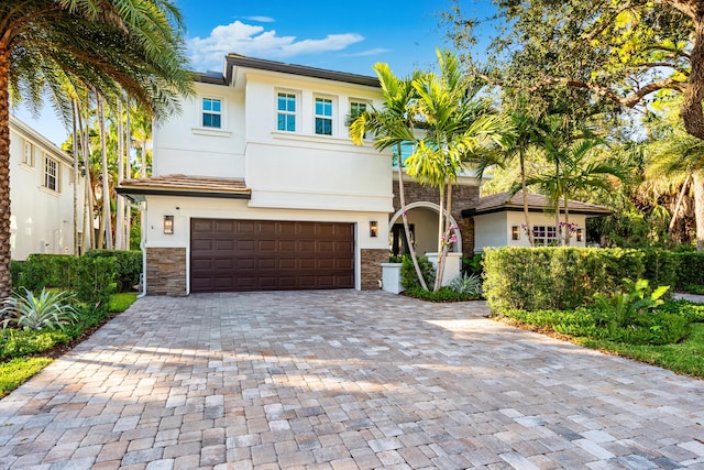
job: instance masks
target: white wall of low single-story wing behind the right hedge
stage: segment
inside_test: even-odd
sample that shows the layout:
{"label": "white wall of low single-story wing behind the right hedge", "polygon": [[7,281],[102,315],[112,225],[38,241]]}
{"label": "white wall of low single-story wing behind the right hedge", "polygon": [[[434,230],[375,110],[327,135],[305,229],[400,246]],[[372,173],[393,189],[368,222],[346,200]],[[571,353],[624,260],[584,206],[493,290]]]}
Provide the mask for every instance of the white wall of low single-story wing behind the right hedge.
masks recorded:
{"label": "white wall of low single-story wing behind the right hedge", "polygon": [[[547,212],[530,212],[530,226],[536,233],[537,244],[550,243],[554,239],[554,215]],[[561,220],[564,216],[561,215]],[[586,216],[570,215],[570,222],[576,223],[576,229],[570,238],[571,247],[586,245]],[[528,234],[521,225],[525,223],[522,211],[501,211],[474,216],[474,251],[481,253],[487,247],[530,247]],[[517,233],[518,239],[514,240]]]}

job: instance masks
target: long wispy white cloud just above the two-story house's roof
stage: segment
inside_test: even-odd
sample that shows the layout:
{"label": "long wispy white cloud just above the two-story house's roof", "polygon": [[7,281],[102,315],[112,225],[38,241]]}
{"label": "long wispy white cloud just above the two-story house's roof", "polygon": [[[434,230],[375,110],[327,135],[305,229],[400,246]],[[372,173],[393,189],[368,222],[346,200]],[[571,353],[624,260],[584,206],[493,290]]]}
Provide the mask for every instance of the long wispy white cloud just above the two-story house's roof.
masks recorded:
{"label": "long wispy white cloud just above the two-story house's roof", "polygon": [[321,40],[300,40],[296,36],[277,36],[275,30],[235,21],[220,25],[208,37],[194,37],[188,41],[190,63],[198,72],[221,69],[224,56],[229,53],[258,58],[284,58],[300,54],[316,54],[329,51],[342,51],[351,44],[363,41],[355,33],[328,34]]}

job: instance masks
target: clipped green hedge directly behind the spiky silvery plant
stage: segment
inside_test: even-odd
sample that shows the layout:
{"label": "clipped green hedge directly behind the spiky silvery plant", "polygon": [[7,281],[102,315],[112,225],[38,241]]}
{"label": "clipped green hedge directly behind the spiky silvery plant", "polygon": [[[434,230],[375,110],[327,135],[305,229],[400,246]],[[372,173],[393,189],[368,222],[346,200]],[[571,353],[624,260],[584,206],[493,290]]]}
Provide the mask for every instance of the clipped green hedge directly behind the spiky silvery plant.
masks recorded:
{"label": "clipped green hedge directly behind the spiky silvery plant", "polygon": [[76,262],[69,254],[33,253],[22,266],[19,285],[30,291],[56,287],[73,291],[76,285]]}

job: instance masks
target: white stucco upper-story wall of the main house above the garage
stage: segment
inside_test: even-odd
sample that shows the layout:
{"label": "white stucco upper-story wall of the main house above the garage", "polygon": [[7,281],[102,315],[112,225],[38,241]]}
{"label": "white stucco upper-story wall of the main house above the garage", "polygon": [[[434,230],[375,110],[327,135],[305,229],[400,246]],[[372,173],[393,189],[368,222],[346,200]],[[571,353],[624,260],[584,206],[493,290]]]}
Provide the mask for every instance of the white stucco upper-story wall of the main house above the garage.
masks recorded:
{"label": "white stucco upper-story wall of the main house above the garage", "polygon": [[[345,125],[351,106],[381,106],[377,88],[248,70],[234,86],[199,83],[196,90],[155,131],[154,175],[244,178],[251,208],[392,210],[391,153],[381,155],[371,140],[354,145]],[[278,130],[279,94],[293,103],[288,130]],[[330,135],[316,133],[318,98]],[[206,109],[213,100],[217,112]]]}

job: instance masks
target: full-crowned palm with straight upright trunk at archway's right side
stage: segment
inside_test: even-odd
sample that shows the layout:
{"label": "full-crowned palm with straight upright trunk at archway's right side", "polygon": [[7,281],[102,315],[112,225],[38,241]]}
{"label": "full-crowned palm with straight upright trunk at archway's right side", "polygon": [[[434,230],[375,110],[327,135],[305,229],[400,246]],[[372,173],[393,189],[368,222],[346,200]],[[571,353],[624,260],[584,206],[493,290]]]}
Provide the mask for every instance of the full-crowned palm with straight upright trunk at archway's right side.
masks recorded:
{"label": "full-crowned palm with straight upright trunk at archway's right side", "polygon": [[480,87],[470,86],[457,55],[448,51],[437,54],[440,73],[422,74],[414,80],[419,97],[415,113],[425,136],[407,160],[408,175],[440,193],[436,292],[442,285],[444,261],[458,230],[444,217],[452,209],[452,185],[466,171],[469,160],[490,153],[497,144],[505,146],[512,134],[508,119],[496,114],[488,99],[477,98]]}

